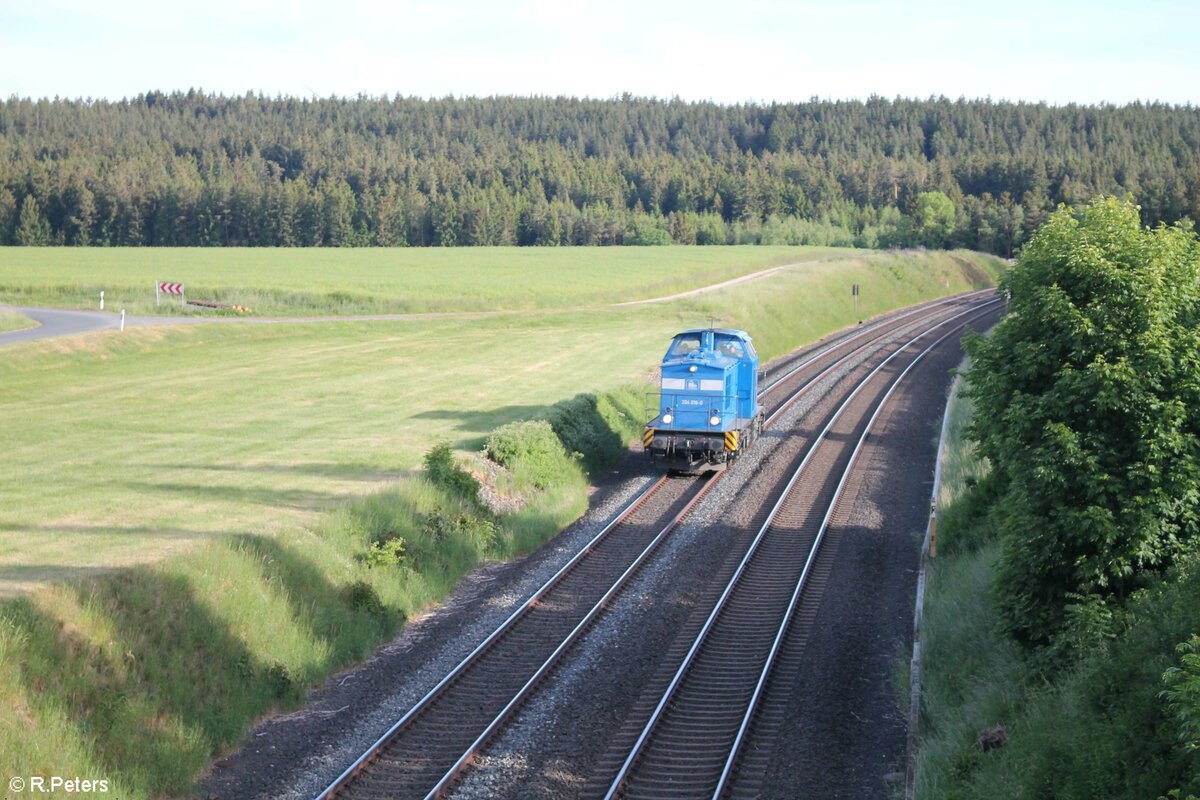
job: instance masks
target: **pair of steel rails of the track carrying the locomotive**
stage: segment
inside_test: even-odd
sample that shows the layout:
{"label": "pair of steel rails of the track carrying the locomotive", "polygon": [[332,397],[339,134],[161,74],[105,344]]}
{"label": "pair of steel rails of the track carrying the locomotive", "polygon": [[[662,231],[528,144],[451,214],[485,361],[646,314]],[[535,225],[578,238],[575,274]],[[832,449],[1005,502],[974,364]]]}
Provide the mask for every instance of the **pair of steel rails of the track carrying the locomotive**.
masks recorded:
{"label": "pair of steel rails of the track carrying the locomotive", "polygon": [[[847,342],[852,342],[857,337],[860,337],[860,336],[863,336],[865,333],[869,333],[871,331],[878,330],[882,326],[886,326],[886,325],[889,325],[889,324],[894,324],[896,321],[902,321],[905,319],[908,319],[910,317],[925,313],[925,312],[928,312],[931,308],[940,307],[942,305],[949,305],[949,303],[953,303],[953,302],[962,301],[964,299],[967,299],[967,297],[970,297],[970,296],[972,296],[974,294],[978,294],[978,293],[968,293],[968,294],[964,294],[964,295],[958,295],[958,296],[955,296],[953,299],[947,299],[947,300],[938,301],[938,302],[935,302],[935,303],[929,303],[929,305],[922,306],[918,309],[911,311],[911,312],[908,312],[908,313],[906,313],[906,314],[904,314],[901,317],[895,317],[895,318],[890,318],[890,319],[887,319],[887,320],[882,320],[882,321],[872,325],[869,329],[864,329],[862,331],[856,331],[850,337],[846,337],[845,339],[841,339],[840,342],[830,344],[829,347],[822,349],[820,353],[817,353],[817,354],[808,357],[802,365],[799,365],[799,366],[793,367],[792,369],[790,369],[785,375],[778,378],[768,387],[763,389],[763,391],[760,393],[760,397],[766,396],[766,393],[769,392],[769,391],[774,391],[785,380],[787,380],[788,378],[791,378],[792,375],[794,375],[800,369],[803,369],[806,366],[810,366],[811,363],[818,361],[821,357],[824,357],[826,355],[828,355],[833,350],[836,350],[836,349],[839,349],[841,347],[845,347],[845,344]],[[904,325],[900,325],[898,327],[902,327],[902,326]],[[818,373],[814,378],[806,380],[804,383],[804,385],[802,385],[800,387],[798,387],[786,401],[784,401],[782,405],[787,405],[791,402],[793,402],[800,395],[803,395],[809,389],[811,389],[812,385],[815,385],[816,383],[818,383],[826,374],[829,373],[830,369],[833,369],[838,365],[845,362],[847,359],[852,357],[854,354],[859,353],[863,348],[865,348],[871,342],[877,341],[878,338],[882,338],[882,336],[875,337],[875,338],[870,339],[866,344],[864,344],[864,345],[862,345],[859,348],[856,348],[854,350],[852,350],[850,353],[846,353],[842,356],[838,357],[838,360],[830,367],[826,368],[824,371],[822,371],[821,373]],[[772,417],[770,417],[770,420],[768,420],[767,425],[769,425],[770,422],[773,422],[776,416],[778,416],[778,413],[773,414]],[[767,426],[764,425],[764,427],[767,427]],[[710,488],[716,483],[716,479],[719,479],[721,475],[724,475],[724,473],[719,473],[716,476],[714,476],[713,480],[707,481],[706,485],[701,488],[701,491],[696,494],[696,497],[694,497],[691,500],[689,500],[688,504],[685,505],[685,507],[664,528],[664,530],[661,530],[654,537],[654,540],[652,541],[652,543],[648,545],[643,549],[643,552],[635,559],[635,561],[622,573],[622,576],[617,579],[617,583],[613,587],[611,587],[605,593],[605,595],[601,597],[601,600],[598,603],[595,603],[595,606],[592,608],[592,610],[588,612],[588,614],[586,615],[586,618],[571,631],[571,633],[568,636],[568,639],[564,640],[563,643],[560,643],[558,648],[556,648],[556,650],[551,655],[551,657],[536,670],[536,673],[534,674],[534,676],[530,678],[526,682],[526,685],[518,691],[517,696],[514,697],[512,700],[510,700],[505,705],[504,710],[493,720],[493,722],[485,729],[485,732],[476,738],[476,740],[472,744],[472,746],[468,748],[468,751],[455,763],[454,768],[451,768],[451,770],[446,772],[446,775],[438,782],[438,784],[434,787],[434,789],[432,789],[428,793],[427,796],[430,796],[430,798],[437,796],[437,794],[439,792],[444,790],[449,786],[449,783],[452,782],[452,780],[457,775],[457,772],[463,766],[466,766],[467,764],[469,764],[470,759],[474,757],[474,754],[478,751],[478,748],[480,746],[482,746],[482,744],[486,742],[487,738],[490,738],[491,735],[493,735],[496,733],[496,730],[499,728],[500,724],[503,724],[504,720],[511,714],[511,711],[533,690],[533,687],[538,682],[538,680],[540,680],[542,676],[545,676],[545,674],[547,672],[550,672],[550,669],[554,666],[554,662],[557,662],[557,660],[562,657],[563,652],[565,652],[565,650],[570,646],[570,644],[572,644],[575,642],[575,639],[577,639],[578,634],[582,633],[582,631],[586,630],[586,627],[592,621],[594,621],[595,616],[611,601],[612,596],[614,596],[617,594],[617,591],[619,591],[620,588],[623,588],[623,585],[628,582],[628,579],[637,571],[637,569],[642,564],[644,564],[646,559],[649,558],[649,555],[656,548],[656,546],[659,543],[661,543],[661,541],[666,537],[666,535],[668,535],[671,533],[671,530],[674,529],[674,527],[679,523],[679,521],[683,519],[683,517],[691,510],[691,507],[694,507],[696,505],[696,503],[698,503],[700,499],[704,494],[707,494],[708,491],[710,491]],[[360,772],[365,766],[367,766],[373,760],[373,758],[379,754],[379,752],[383,750],[383,747],[385,747],[388,745],[389,740],[391,740],[397,734],[397,732],[400,732],[402,728],[404,728],[404,726],[407,726],[416,715],[419,715],[420,712],[422,712],[424,710],[426,710],[430,705],[432,705],[432,703],[449,687],[449,685],[451,682],[454,682],[455,679],[457,679],[487,649],[490,649],[498,639],[500,639],[516,624],[516,621],[518,619],[521,619],[533,606],[535,606],[548,591],[551,591],[558,583],[560,583],[562,579],[576,565],[578,565],[580,561],[582,561],[584,558],[587,558],[595,549],[596,545],[604,537],[606,537],[619,524],[622,524],[623,522],[625,522],[638,507],[641,507],[650,497],[653,497],[666,483],[667,480],[668,479],[665,477],[665,476],[660,477],[658,481],[655,481],[654,483],[652,483],[647,489],[644,489],[641,494],[638,494],[638,497],[634,498],[608,524],[606,524],[595,536],[593,536],[592,540],[589,540],[588,543],[584,545],[550,579],[547,579],[546,583],[544,583],[538,590],[535,590],[534,594],[530,595],[521,606],[518,606],[516,609],[514,609],[514,612],[494,631],[492,631],[492,633],[488,634],[488,637],[486,639],[484,639],[484,642],[481,642],[466,657],[463,657],[455,666],[454,669],[451,669],[445,676],[443,676],[438,681],[438,684],[433,686],[433,688],[431,688],[428,692],[426,692],[426,694],[422,696],[421,699],[419,699],[400,720],[397,720],[383,735],[380,735],[371,745],[371,747],[367,748],[366,752],[364,752],[358,759],[355,759],[355,762],[353,764],[350,764],[341,775],[338,775],[338,777],[335,778],[317,796],[316,800],[329,800],[330,798],[335,796],[335,793],[337,793],[341,789],[346,788],[346,784],[349,782],[349,780],[353,778],[358,772]]]}

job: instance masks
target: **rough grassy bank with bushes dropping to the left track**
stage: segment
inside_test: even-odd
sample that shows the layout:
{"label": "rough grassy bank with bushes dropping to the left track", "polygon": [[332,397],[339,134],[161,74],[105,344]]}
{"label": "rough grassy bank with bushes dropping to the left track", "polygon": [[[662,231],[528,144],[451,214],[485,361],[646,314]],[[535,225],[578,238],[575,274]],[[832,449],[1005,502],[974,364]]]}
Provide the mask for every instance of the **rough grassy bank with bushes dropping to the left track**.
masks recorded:
{"label": "rough grassy bank with bushes dropping to the left track", "polygon": [[[988,269],[971,261],[964,284]],[[790,331],[803,330],[794,308],[805,301],[780,294],[718,319],[761,320],[763,349],[780,354],[800,341]],[[194,793],[251,723],[299,709],[310,687],[372,656],[480,563],[552,537],[587,510],[595,485],[607,498],[607,470],[641,429],[644,390],[534,411],[533,425],[493,433],[491,458],[434,449],[420,474],[311,530],[214,537],[155,565],[80,573],[5,601],[5,769],[103,778],[114,796]]]}

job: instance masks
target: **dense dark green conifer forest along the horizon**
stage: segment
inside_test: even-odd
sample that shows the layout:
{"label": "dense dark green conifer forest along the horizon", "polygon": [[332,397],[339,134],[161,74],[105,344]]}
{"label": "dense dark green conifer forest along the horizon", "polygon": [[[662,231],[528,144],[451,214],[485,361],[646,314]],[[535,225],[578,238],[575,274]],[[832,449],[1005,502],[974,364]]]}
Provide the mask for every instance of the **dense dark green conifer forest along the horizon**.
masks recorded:
{"label": "dense dark green conifer forest along the horizon", "polygon": [[0,245],[961,246],[1200,218],[1200,108],[634,97],[0,103]]}

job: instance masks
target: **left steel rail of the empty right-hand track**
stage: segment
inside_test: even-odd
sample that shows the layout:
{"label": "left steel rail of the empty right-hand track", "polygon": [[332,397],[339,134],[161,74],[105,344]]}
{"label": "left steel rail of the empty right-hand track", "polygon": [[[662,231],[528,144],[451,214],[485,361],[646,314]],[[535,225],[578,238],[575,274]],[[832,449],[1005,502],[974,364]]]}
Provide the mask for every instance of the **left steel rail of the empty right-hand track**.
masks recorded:
{"label": "left steel rail of the empty right-hand track", "polygon": [[[905,343],[900,348],[896,348],[896,350],[892,355],[889,355],[878,366],[876,366],[865,378],[863,378],[863,380],[859,381],[859,384],[854,387],[854,390],[840,404],[840,407],[838,408],[838,410],[834,413],[834,415],[829,419],[829,421],[822,428],[821,433],[818,433],[817,437],[812,440],[811,445],[809,446],[808,452],[805,453],[804,458],[800,461],[800,464],[796,468],[794,473],[792,474],[792,477],[788,480],[788,482],[787,482],[786,487],[784,488],[782,493],[780,494],[779,499],[772,506],[770,512],[767,515],[766,522],[763,523],[762,528],[758,530],[758,534],[755,536],[754,541],[751,542],[750,548],[748,549],[746,554],[743,557],[742,561],[738,564],[737,570],[733,572],[733,576],[730,578],[728,583],[726,584],[725,590],[721,593],[721,596],[718,599],[716,604],[714,606],[713,610],[709,613],[708,618],[706,619],[703,627],[701,628],[700,633],[696,636],[696,639],[692,643],[691,648],[688,650],[688,654],[684,656],[684,660],[680,663],[679,668],[676,670],[676,674],[673,675],[671,682],[668,684],[666,691],[664,692],[662,698],[659,700],[659,703],[655,706],[653,714],[650,715],[649,721],[646,723],[644,728],[642,729],[641,735],[637,738],[637,741],[634,744],[634,747],[631,748],[629,756],[625,758],[625,762],[622,764],[619,771],[617,772],[617,776],[613,778],[613,782],[610,786],[608,792],[605,794],[605,800],[612,800],[613,798],[616,798],[617,793],[620,792],[622,784],[624,783],[625,778],[628,777],[630,769],[632,768],[632,765],[636,762],[637,757],[641,754],[641,751],[646,746],[646,742],[649,740],[649,736],[653,734],[654,728],[658,726],[659,721],[661,720],[662,714],[664,714],[667,704],[671,702],[672,697],[674,696],[676,691],[678,690],[679,684],[683,681],[684,675],[686,674],[686,672],[690,668],[692,661],[695,660],[696,654],[700,651],[700,648],[703,645],[704,640],[707,639],[709,631],[712,630],[714,622],[716,621],[716,618],[720,615],[720,613],[721,613],[722,608],[725,607],[725,604],[726,604],[730,595],[733,593],[733,589],[737,587],[738,582],[740,581],[742,575],[745,572],[746,566],[750,563],[752,555],[755,554],[755,552],[757,552],[758,546],[762,543],[762,541],[763,541],[763,539],[766,536],[767,530],[770,528],[772,522],[774,521],[775,516],[779,513],[779,510],[782,507],[784,503],[787,500],[787,497],[791,494],[793,487],[796,486],[796,482],[799,480],[800,474],[808,467],[808,464],[811,461],[814,453],[816,453],[816,451],[817,451],[817,444],[820,444],[820,441],[822,441],[827,437],[827,434],[829,433],[829,431],[833,428],[834,423],[841,416],[842,411],[845,411],[846,408],[850,407],[850,403],[858,395],[858,392],[864,386],[866,386],[866,384],[871,380],[871,378],[874,378],[881,369],[883,369],[884,366],[887,366],[893,359],[895,359],[900,353],[902,353],[911,344],[913,344],[914,342],[919,341],[920,338],[928,336],[930,332],[937,330],[938,327],[942,327],[943,325],[954,321],[955,319],[958,319],[960,317],[964,317],[964,315],[967,315],[967,314],[976,314],[976,317],[973,317],[972,319],[982,317],[982,315],[984,315],[985,313],[989,313],[989,312],[988,311],[983,311],[983,313],[978,313],[978,312],[980,312],[983,308],[988,308],[990,311],[990,307],[995,306],[997,302],[1000,302],[1000,301],[998,300],[989,301],[986,303],[983,303],[983,306],[972,307],[972,308],[968,308],[967,311],[964,311],[964,312],[960,312],[958,314],[954,314],[953,317],[950,317],[948,319],[944,319],[944,320],[937,323],[936,325],[930,326],[929,329],[926,329],[920,335],[918,335],[917,337],[914,337],[910,342]],[[954,330],[959,330],[959,329],[964,327],[965,325],[970,324],[971,321],[972,320],[966,320],[962,324],[960,324],[959,326],[956,326]],[[948,332],[947,336],[950,336],[953,332],[954,331]],[[938,339],[938,343],[941,341],[942,339]],[[935,343],[935,345],[936,345],[936,343]],[[932,348],[935,345],[930,345],[930,347]],[[847,467],[846,474],[848,474],[848,471],[850,470],[848,470],[848,467]],[[841,483],[839,483],[839,491],[840,491],[840,486],[841,486]],[[822,531],[823,531],[823,529],[824,529],[824,524],[822,524]],[[816,552],[815,547],[814,547],[812,552],[814,553]],[[810,555],[810,560],[811,560],[811,555]],[[808,571],[808,567],[805,567],[805,572],[806,571]]]}

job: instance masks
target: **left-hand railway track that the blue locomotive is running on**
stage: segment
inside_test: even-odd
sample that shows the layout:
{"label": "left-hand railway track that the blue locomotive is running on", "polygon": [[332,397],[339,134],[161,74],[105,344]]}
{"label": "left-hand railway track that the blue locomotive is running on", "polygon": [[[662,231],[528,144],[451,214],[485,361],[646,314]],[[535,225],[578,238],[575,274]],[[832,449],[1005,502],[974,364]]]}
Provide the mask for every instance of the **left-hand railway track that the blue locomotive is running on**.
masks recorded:
{"label": "left-hand railway track that the blue locomotive is running on", "polygon": [[[978,293],[974,293],[978,294]],[[840,365],[898,331],[961,315],[974,295],[858,329],[772,369],[770,421]],[[715,477],[660,479],[517,608],[319,796],[434,798],[460,776]]]}

